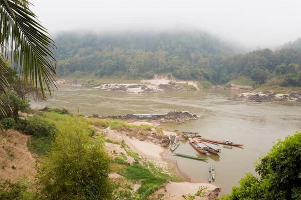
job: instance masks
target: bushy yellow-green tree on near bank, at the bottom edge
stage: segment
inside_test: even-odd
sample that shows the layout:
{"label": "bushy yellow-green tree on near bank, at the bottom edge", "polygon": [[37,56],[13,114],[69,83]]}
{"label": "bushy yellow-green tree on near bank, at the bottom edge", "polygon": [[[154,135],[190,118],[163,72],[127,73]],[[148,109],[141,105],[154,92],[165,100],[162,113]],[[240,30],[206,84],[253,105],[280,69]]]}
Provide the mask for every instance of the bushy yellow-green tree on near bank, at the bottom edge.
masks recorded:
{"label": "bushy yellow-green tree on near bank, at the bottom edge", "polygon": [[90,143],[87,124],[79,119],[58,126],[49,157],[39,168],[39,191],[45,199],[106,199],[111,193],[110,158],[103,141]]}

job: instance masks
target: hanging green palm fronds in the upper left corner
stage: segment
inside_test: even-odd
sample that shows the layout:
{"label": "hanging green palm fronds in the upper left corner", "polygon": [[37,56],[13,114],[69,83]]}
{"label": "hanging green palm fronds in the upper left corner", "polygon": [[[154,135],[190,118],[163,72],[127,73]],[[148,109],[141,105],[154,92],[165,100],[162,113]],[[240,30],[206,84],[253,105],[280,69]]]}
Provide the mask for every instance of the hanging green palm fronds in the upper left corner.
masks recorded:
{"label": "hanging green palm fronds in the upper left corner", "polygon": [[[37,91],[39,87],[44,98],[45,90],[51,94],[57,77],[57,61],[51,50],[55,44],[29,5],[28,0],[0,0],[0,92],[10,86],[3,75],[10,59],[15,71],[20,66],[25,85],[31,84]],[[1,97],[0,110],[6,113],[4,103]]]}

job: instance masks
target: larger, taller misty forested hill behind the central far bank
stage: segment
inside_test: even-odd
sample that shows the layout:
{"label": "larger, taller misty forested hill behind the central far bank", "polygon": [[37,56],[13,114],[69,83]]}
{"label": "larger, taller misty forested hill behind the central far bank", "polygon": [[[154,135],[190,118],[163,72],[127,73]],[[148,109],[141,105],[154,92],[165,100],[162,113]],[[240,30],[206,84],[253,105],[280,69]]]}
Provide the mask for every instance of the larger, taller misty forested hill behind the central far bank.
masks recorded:
{"label": "larger, taller misty forested hill behind the central far bank", "polygon": [[60,75],[80,70],[93,71],[99,76],[116,71],[143,76],[147,71],[173,72],[182,66],[207,68],[212,56],[234,54],[225,42],[201,31],[113,35],[62,33],[55,41],[56,57],[64,60],[60,62],[63,68],[58,69]]}

